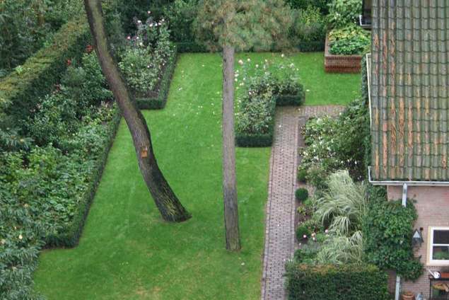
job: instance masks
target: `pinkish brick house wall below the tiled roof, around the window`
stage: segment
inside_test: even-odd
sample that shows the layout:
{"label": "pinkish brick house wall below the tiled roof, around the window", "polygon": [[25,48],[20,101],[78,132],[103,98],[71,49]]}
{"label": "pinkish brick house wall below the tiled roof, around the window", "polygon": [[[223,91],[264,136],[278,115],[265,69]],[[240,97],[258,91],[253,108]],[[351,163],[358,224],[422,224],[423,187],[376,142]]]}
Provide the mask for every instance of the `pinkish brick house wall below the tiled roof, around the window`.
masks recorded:
{"label": "pinkish brick house wall below the tiled roof, around the window", "polygon": [[[389,186],[387,188],[388,199],[398,200],[402,198],[402,186]],[[418,212],[418,219],[414,225],[415,229],[424,229],[422,231],[424,243],[416,249],[415,255],[421,255],[421,262],[424,268],[430,270],[443,270],[447,272],[448,267],[433,267],[426,264],[428,250],[428,228],[429,226],[449,226],[449,187],[409,187],[407,192],[408,199],[416,200],[415,207]],[[390,281],[395,277],[390,276]],[[402,291],[414,293],[423,293],[427,298],[428,292],[428,272],[419,277],[416,282],[402,282]]]}

